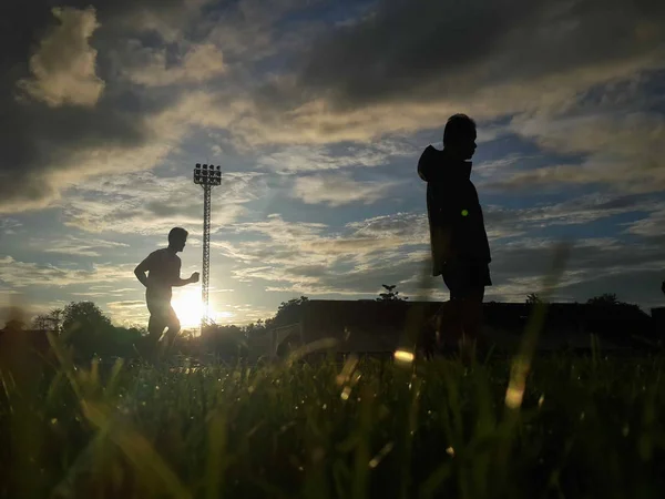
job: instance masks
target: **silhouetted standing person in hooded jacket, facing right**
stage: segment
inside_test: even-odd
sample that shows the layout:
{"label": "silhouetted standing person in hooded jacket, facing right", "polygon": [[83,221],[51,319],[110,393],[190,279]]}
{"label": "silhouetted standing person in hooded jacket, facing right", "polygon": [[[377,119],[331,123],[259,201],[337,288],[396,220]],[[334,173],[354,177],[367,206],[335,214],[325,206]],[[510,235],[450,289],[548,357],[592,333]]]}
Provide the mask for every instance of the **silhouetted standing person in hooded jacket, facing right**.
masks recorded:
{"label": "silhouetted standing person in hooded jacket, facing right", "polygon": [[443,151],[429,145],[418,162],[418,174],[427,182],[432,275],[441,275],[450,291],[439,320],[447,325],[446,339],[462,340],[466,354],[481,339],[482,301],[485,286],[492,285],[490,244],[470,179],[475,139],[475,122],[456,114],[446,124]]}

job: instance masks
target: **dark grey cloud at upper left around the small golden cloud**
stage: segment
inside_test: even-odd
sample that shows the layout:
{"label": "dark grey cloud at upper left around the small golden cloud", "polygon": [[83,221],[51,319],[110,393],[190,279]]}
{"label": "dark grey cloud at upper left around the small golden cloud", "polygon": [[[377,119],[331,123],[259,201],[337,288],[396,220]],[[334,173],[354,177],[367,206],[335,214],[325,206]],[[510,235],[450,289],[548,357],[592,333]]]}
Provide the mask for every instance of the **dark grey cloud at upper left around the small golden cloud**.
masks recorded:
{"label": "dark grey cloud at upper left around the small golden cloud", "polygon": [[[31,0],[2,2],[0,8],[0,211],[39,206],[58,195],[50,175],[71,169],[74,153],[98,147],[133,149],[151,140],[149,120],[166,105],[158,94],[137,96],[126,88],[106,84],[94,105],[49,105],[21,92],[19,82],[33,78],[30,58],[44,37],[61,26],[53,8],[94,8],[101,26],[90,40],[96,50],[96,75],[104,81],[104,58],[126,20],[146,9],[164,19],[174,17],[184,0]],[[58,53],[52,50],[50,55]],[[53,61],[43,61],[47,71]],[[142,105],[136,105],[141,100]],[[85,173],[85,165],[74,165]]]}

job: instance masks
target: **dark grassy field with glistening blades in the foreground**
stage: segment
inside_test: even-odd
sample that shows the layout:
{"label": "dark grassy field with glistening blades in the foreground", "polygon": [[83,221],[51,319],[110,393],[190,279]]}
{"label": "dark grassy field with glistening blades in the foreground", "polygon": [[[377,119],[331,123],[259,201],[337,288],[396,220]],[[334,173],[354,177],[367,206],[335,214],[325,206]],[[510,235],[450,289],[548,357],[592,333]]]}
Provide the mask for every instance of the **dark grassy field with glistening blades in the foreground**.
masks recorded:
{"label": "dark grassy field with glistening blades in the foreground", "polygon": [[663,356],[83,369],[55,346],[51,367],[2,370],[2,497],[665,490]]}

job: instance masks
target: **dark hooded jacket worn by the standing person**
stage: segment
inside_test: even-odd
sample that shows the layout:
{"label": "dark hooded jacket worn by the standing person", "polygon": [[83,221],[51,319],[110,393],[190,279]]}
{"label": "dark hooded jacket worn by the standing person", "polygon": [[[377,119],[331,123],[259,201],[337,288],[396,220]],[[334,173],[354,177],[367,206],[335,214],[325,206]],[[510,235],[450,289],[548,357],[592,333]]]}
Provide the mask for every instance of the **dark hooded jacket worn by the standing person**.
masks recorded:
{"label": "dark hooded jacket worn by the standing person", "polygon": [[427,182],[427,214],[432,252],[432,275],[447,262],[488,265],[492,257],[478,192],[470,180],[471,162],[452,160],[446,150],[429,145],[418,161]]}

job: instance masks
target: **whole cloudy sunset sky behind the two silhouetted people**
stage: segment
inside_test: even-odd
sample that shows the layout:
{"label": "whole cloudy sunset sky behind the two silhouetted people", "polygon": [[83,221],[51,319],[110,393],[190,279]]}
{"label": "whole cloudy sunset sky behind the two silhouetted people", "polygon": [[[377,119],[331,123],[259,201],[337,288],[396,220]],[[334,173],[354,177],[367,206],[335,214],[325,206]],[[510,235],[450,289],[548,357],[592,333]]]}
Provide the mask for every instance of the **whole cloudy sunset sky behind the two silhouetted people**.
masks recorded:
{"label": "whole cloudy sunset sky behind the two silhouetted people", "polygon": [[[381,284],[448,299],[416,167],[459,112],[485,301],[539,292],[566,241],[553,299],[664,305],[662,0],[10,0],[0,44],[0,314],[89,299],[144,326],[133,269],[171,227],[202,267],[195,163],[224,172],[218,323]],[[183,324],[200,294],[176,289]]]}

